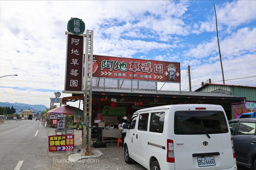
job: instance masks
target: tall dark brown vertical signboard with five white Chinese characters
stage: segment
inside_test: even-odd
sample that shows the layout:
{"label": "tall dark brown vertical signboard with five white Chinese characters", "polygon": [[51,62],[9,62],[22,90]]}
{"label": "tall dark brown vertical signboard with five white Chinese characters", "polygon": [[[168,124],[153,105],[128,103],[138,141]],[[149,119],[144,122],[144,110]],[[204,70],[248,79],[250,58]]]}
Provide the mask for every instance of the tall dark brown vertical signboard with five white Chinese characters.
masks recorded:
{"label": "tall dark brown vertical signboard with five white Chinese characters", "polygon": [[84,37],[68,34],[65,90],[82,91]]}

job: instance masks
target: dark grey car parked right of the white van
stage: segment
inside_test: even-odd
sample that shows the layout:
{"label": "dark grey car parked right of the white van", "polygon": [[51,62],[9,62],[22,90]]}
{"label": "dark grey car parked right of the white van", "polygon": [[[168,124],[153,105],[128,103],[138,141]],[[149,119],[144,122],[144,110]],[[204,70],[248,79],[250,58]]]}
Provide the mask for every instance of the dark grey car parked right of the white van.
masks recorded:
{"label": "dark grey car parked right of the white van", "polygon": [[229,120],[237,165],[256,170],[256,118]]}

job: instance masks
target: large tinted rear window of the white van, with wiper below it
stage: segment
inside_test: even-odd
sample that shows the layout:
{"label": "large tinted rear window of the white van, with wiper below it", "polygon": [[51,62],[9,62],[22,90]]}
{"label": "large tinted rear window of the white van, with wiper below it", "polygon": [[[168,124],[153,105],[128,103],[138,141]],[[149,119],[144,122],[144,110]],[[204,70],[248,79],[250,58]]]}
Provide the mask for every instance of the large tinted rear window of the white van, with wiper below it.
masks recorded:
{"label": "large tinted rear window of the white van, with wiper below it", "polygon": [[[198,133],[197,133],[198,132]],[[225,114],[222,111],[176,111],[174,134],[192,135],[228,133]]]}

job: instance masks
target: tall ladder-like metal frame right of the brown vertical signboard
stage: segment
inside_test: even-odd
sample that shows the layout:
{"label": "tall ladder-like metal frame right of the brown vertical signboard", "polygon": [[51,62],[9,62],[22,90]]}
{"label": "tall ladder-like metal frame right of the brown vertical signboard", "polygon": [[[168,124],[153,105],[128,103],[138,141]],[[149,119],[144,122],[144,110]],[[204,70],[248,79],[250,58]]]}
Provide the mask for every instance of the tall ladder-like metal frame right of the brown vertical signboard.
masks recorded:
{"label": "tall ladder-like metal frame right of the brown vertical signboard", "polygon": [[[92,58],[93,58],[93,30],[86,30],[86,51],[84,57],[84,100],[83,100],[83,122],[91,126],[92,122]],[[86,139],[87,128],[83,129],[82,149],[88,149],[91,153],[91,129],[89,128],[88,139]],[[88,146],[86,148],[86,140]]]}

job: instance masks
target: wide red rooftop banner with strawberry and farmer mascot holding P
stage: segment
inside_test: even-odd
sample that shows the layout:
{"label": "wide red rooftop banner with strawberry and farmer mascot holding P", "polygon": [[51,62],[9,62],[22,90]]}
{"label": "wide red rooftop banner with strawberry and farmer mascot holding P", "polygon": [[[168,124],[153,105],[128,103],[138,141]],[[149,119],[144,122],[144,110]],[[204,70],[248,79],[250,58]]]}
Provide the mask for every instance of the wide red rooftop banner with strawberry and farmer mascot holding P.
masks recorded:
{"label": "wide red rooftop banner with strawberry and farmer mascot holding P", "polygon": [[180,63],[93,55],[93,77],[180,82]]}

